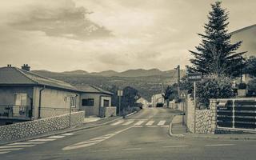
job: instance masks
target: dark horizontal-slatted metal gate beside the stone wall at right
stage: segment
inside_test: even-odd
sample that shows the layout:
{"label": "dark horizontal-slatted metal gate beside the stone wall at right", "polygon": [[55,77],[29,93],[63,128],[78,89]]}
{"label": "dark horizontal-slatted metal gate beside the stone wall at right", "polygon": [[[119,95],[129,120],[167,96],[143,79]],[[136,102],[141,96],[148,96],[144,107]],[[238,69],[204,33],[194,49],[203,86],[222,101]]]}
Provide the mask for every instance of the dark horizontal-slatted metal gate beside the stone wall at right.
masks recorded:
{"label": "dark horizontal-slatted metal gate beside the stone wall at right", "polygon": [[218,99],[217,128],[256,131],[256,98]]}

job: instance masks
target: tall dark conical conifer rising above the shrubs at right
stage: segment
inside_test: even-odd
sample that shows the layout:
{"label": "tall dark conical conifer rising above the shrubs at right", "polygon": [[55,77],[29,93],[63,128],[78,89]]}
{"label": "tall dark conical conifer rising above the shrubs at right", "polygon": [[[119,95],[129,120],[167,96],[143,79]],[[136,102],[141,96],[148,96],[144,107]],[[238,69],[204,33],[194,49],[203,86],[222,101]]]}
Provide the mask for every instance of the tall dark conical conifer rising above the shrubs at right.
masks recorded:
{"label": "tall dark conical conifer rising above the shrubs at right", "polygon": [[229,25],[228,14],[222,9],[221,2],[211,4],[212,10],[205,24],[205,34],[198,34],[202,42],[196,46],[197,52],[189,50],[194,55],[190,59],[192,66],[188,66],[190,72],[201,72],[206,75],[238,76],[244,66],[242,53],[236,53],[242,41],[231,44],[231,35],[226,29]]}

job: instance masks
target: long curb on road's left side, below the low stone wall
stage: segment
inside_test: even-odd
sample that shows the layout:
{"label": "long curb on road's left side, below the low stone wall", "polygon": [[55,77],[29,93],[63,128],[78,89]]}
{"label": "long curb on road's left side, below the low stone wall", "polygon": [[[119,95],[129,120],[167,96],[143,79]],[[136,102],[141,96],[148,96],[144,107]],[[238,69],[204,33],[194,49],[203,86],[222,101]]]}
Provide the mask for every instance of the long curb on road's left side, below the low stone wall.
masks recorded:
{"label": "long curb on road's left side, below the low stone wall", "polygon": [[[130,116],[130,115],[133,115],[133,114],[136,114],[137,111],[133,112],[133,113],[130,113],[130,114],[127,114],[126,116]],[[9,141],[9,142],[0,142],[0,146],[3,146],[3,145],[6,145],[6,144],[10,144],[10,143],[14,143],[14,142],[25,142],[25,141],[28,141],[28,140],[32,140],[32,139],[38,139],[38,138],[45,138],[45,137],[49,137],[49,136],[53,136],[53,135],[58,135],[58,134],[66,134],[66,133],[70,133],[70,132],[75,132],[75,131],[78,131],[78,130],[86,130],[86,129],[90,129],[90,128],[94,128],[94,127],[97,127],[97,126],[104,126],[110,122],[114,122],[114,121],[117,121],[119,119],[121,119],[122,117],[119,117],[119,118],[115,118],[109,122],[104,122],[104,123],[101,123],[101,124],[97,124],[97,125],[93,125],[93,126],[84,126],[84,127],[78,127],[78,126],[74,126],[74,128],[70,128],[70,130],[68,129],[64,129],[64,130],[56,130],[56,132],[58,133],[50,133],[50,134],[43,134],[43,135],[36,135],[34,137],[30,137],[30,138],[21,138],[21,139],[18,139],[18,140],[14,140],[14,141]],[[76,128],[78,127],[78,128]]]}

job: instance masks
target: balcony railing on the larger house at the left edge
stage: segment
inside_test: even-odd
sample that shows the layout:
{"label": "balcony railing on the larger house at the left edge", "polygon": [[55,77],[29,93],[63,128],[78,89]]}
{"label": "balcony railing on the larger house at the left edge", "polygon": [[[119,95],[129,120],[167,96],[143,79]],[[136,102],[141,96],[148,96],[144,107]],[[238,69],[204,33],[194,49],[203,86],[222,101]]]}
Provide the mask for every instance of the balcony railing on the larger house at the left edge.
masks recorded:
{"label": "balcony railing on the larger house at the left edge", "polygon": [[30,119],[32,113],[33,106],[0,105],[0,118]]}

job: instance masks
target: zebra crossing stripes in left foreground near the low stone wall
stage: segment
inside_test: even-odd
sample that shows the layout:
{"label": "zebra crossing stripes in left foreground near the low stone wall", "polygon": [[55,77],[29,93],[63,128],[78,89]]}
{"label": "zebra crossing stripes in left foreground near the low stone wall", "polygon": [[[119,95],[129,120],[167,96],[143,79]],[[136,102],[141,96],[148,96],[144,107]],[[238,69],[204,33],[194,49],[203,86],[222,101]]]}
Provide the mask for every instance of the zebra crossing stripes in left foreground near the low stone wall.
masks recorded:
{"label": "zebra crossing stripes in left foreground near the low stone wall", "polygon": [[0,146],[0,154],[8,154],[14,150],[23,150],[25,148],[29,148],[29,147],[36,146],[36,145],[41,145],[46,142],[55,141],[58,138],[65,138],[66,136],[70,136],[70,135],[73,135],[73,134],[67,133],[67,134],[61,134],[61,135],[54,135],[54,136],[50,136],[50,137],[46,137],[46,138],[32,139],[27,142],[10,143],[10,144],[4,145],[4,146]]}

